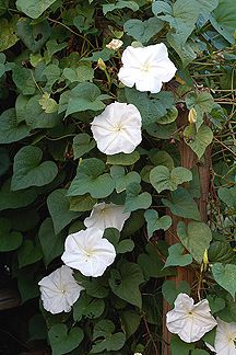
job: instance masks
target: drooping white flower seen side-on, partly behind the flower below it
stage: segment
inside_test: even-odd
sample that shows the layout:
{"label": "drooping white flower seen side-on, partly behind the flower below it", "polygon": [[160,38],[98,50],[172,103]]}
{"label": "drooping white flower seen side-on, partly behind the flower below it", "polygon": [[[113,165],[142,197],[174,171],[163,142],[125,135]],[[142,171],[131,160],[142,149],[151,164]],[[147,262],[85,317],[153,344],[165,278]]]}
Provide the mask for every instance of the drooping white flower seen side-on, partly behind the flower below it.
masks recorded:
{"label": "drooping white flower seen side-on, partly behind the flower below it", "polygon": [[84,219],[84,225],[101,230],[116,228],[121,231],[129,217],[130,213],[123,213],[123,206],[101,203],[93,207],[90,217]]}

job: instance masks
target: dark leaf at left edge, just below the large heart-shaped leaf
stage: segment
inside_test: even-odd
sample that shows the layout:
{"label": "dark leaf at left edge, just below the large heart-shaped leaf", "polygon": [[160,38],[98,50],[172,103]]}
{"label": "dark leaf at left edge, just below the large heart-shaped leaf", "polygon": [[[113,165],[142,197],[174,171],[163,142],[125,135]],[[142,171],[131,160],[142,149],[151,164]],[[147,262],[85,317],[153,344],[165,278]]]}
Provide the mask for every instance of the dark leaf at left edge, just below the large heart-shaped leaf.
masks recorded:
{"label": "dark leaf at left edge, just below the large heart-shaped leaf", "polygon": [[28,206],[37,197],[34,190],[11,191],[10,187],[11,181],[8,180],[0,190],[0,210]]}

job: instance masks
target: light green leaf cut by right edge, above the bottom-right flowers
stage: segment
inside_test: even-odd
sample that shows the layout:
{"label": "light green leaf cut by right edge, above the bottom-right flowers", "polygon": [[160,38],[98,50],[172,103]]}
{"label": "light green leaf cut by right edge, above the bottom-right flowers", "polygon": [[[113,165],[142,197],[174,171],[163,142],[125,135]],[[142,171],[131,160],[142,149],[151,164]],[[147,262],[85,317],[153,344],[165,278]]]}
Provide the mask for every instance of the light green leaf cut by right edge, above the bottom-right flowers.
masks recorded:
{"label": "light green leaf cut by right edge, above the bottom-right flowers", "polygon": [[235,273],[236,273],[236,265],[233,264],[224,265],[222,263],[215,263],[212,265],[212,274],[214,276],[214,279],[221,287],[226,289],[234,299],[236,293]]}

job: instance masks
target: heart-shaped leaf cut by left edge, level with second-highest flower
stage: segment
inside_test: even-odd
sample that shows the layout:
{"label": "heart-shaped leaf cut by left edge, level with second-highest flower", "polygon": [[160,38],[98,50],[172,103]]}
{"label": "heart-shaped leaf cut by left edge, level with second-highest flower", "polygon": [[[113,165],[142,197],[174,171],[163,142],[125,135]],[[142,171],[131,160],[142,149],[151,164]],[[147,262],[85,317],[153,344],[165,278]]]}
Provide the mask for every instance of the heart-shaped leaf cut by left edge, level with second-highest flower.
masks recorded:
{"label": "heart-shaped leaf cut by left edge, level with second-highest flower", "polygon": [[0,144],[10,144],[27,137],[30,128],[25,124],[17,125],[15,110],[9,108],[0,116]]}

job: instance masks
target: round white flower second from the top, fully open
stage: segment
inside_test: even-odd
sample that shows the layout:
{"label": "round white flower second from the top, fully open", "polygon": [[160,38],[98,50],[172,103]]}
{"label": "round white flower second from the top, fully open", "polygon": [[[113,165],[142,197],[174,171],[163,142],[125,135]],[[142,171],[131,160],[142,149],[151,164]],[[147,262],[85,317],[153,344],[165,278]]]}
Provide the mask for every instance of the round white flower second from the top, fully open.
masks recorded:
{"label": "round white flower second from the top, fully open", "polygon": [[106,154],[130,153],[142,140],[141,115],[132,104],[111,103],[91,125],[97,148]]}

